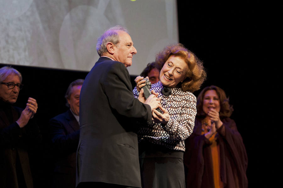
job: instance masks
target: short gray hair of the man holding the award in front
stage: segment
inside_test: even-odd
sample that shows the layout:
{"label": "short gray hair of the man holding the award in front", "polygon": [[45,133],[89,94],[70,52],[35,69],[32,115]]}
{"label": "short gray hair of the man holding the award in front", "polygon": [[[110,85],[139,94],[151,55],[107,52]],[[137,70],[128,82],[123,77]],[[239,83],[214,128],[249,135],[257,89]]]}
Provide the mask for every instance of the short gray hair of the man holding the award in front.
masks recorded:
{"label": "short gray hair of the man holding the award in front", "polygon": [[107,29],[98,39],[96,44],[96,50],[99,56],[102,56],[105,52],[107,52],[106,44],[108,42],[112,42],[113,44],[118,44],[119,41],[119,34],[117,31],[125,31],[128,33],[128,29],[122,27],[120,25],[116,25]]}

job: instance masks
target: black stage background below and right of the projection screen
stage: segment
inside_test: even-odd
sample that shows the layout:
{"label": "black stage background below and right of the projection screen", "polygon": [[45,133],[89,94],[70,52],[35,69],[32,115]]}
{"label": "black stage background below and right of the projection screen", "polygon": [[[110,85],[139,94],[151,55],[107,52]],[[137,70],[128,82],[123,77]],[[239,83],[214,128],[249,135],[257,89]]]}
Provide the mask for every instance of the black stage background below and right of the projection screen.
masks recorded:
{"label": "black stage background below and right of the projection screen", "polygon": [[[271,3],[178,1],[180,43],[193,51],[207,70],[202,88],[221,87],[234,107],[231,118],[247,149],[249,187],[276,185],[281,174],[282,141],[277,133],[282,110],[276,109],[280,105],[277,81],[281,62],[272,60],[280,54],[281,15],[282,6]],[[24,108],[28,97],[38,103],[36,120],[45,140],[42,151],[31,156],[31,163],[41,164],[32,166],[35,185],[49,187],[48,121],[67,110],[64,95],[69,83],[85,78],[87,72],[13,67],[22,73],[24,84],[15,105]],[[133,84],[135,77],[131,76]]]}

